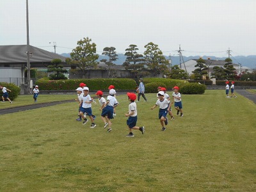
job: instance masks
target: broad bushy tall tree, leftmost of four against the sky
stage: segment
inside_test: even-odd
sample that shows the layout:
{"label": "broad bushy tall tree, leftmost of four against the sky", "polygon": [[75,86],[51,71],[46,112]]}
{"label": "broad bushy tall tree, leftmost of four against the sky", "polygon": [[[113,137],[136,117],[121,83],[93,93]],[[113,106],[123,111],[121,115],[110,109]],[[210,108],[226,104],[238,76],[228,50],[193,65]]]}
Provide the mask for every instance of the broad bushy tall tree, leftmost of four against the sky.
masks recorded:
{"label": "broad bushy tall tree, leftmost of four against the sky", "polygon": [[73,68],[77,67],[83,72],[83,78],[86,70],[96,68],[99,63],[96,61],[99,58],[99,55],[95,54],[96,44],[91,42],[92,39],[88,37],[79,40],[76,49],[70,53],[70,59],[66,60]]}

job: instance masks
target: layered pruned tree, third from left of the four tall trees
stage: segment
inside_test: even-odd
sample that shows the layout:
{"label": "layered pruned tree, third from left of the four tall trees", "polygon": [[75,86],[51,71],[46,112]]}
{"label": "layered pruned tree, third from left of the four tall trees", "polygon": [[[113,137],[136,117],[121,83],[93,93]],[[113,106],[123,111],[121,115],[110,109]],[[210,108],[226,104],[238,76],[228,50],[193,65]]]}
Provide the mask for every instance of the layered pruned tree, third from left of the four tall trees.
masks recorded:
{"label": "layered pruned tree, third from left of the four tall trees", "polygon": [[129,48],[125,49],[126,60],[123,63],[123,66],[126,70],[131,70],[131,73],[135,78],[140,78],[148,74],[145,71],[145,58],[143,58],[143,54],[138,54],[139,49],[137,45],[129,45]]}

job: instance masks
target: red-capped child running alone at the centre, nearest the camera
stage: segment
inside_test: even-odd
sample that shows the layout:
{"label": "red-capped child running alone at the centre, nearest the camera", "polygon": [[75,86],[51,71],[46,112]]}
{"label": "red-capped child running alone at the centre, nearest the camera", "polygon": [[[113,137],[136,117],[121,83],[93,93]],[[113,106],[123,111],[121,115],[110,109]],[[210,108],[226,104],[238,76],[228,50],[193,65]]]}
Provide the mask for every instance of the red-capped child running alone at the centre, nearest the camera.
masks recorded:
{"label": "red-capped child running alone at the centre, nearest the camera", "polygon": [[136,94],[134,93],[127,93],[128,95],[128,100],[130,101],[129,104],[129,111],[128,113],[125,114],[126,117],[129,116],[129,118],[127,119],[127,126],[129,128],[129,134],[127,134],[126,136],[129,138],[134,137],[134,134],[132,133],[132,129],[138,129],[142,132],[142,134],[144,134],[145,132],[145,128],[144,127],[137,127],[136,123],[137,123],[137,106],[136,106],[136,102],[134,102],[136,100]]}

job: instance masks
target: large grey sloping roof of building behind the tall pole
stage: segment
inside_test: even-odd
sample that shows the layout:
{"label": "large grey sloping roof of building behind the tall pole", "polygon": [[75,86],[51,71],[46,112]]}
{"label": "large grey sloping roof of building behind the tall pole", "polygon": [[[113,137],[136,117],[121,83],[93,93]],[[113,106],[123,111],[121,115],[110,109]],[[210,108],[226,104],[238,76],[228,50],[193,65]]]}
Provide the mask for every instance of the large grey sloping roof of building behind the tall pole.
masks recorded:
{"label": "large grey sloping roof of building behind the tall pole", "polygon": [[[65,63],[65,57],[53,52],[29,46],[31,57],[29,62],[31,67],[45,67],[45,64],[51,63],[53,59],[60,59]],[[27,45],[0,45],[0,65],[8,64],[26,64],[27,63]],[[38,65],[36,65],[36,63]],[[40,65],[43,64],[43,65]]]}

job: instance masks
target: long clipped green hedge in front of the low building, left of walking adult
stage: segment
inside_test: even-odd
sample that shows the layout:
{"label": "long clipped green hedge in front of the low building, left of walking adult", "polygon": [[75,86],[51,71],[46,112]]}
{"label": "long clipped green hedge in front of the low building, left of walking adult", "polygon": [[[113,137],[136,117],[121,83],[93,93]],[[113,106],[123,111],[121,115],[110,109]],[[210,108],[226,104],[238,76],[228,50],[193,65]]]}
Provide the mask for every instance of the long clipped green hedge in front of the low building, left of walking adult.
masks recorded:
{"label": "long clipped green hedge in front of the low building, left of walking adult", "polygon": [[67,80],[45,80],[39,79],[36,84],[40,90],[76,90],[83,82],[90,90],[108,90],[108,86],[113,84],[115,90],[135,90],[136,82],[133,79],[67,79]]}

